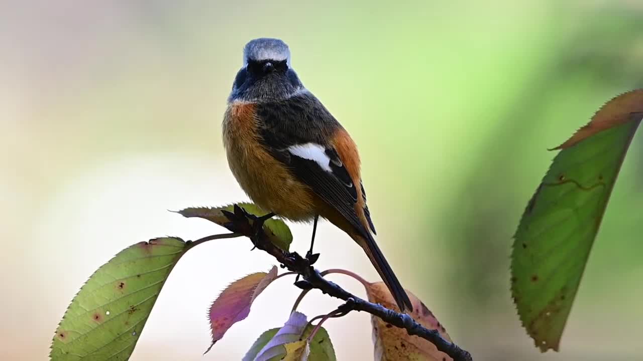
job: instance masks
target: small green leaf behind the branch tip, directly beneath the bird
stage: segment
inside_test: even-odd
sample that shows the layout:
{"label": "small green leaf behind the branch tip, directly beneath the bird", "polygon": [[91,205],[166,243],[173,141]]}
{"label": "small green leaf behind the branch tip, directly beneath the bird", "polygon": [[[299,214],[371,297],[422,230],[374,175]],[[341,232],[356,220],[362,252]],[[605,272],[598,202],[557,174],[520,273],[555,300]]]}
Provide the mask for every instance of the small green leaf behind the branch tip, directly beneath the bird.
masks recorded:
{"label": "small green leaf behind the branch tip, directly beneath the bird", "polygon": [[[238,203],[238,205],[251,215],[263,216],[268,213],[267,211],[264,211],[263,209],[252,203]],[[215,208],[190,207],[178,211],[177,213],[187,218],[204,218],[206,220],[209,220],[210,222],[214,222],[225,227],[225,225],[230,222],[230,220],[228,220],[228,218],[224,216],[223,213],[221,213],[221,210],[223,209],[229,212],[233,212],[233,207],[234,204]],[[270,242],[284,251],[289,251],[290,243],[293,242],[293,234],[290,232],[290,229],[283,220],[274,217],[266,220],[266,222],[264,223],[264,231],[268,235]]]}

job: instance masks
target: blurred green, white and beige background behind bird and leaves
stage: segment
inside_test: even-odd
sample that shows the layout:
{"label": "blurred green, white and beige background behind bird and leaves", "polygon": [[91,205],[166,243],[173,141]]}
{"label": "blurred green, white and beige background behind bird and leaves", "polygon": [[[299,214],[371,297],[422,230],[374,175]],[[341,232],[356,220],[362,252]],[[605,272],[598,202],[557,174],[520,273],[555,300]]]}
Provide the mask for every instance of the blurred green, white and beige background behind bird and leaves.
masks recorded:
{"label": "blurred green, white and beige background behind bird and leaves", "polygon": [[[168,213],[246,197],[221,119],[242,46],[280,37],[360,146],[379,243],[476,360],[640,360],[643,143],[635,137],[561,352],[541,354],[509,295],[512,234],[553,155],[604,101],[643,86],[640,1],[0,2],[0,359],[46,360],[87,277],[132,243],[215,225]],[[293,225],[304,251],[310,227]],[[321,224],[320,268],[377,274]],[[274,261],[222,240],[186,255],[132,360],[239,360],[287,318],[281,279],[206,356],[206,308]],[[356,281],[333,277],[363,294]],[[338,303],[311,293],[314,316]],[[368,315],[327,323],[372,358]]]}

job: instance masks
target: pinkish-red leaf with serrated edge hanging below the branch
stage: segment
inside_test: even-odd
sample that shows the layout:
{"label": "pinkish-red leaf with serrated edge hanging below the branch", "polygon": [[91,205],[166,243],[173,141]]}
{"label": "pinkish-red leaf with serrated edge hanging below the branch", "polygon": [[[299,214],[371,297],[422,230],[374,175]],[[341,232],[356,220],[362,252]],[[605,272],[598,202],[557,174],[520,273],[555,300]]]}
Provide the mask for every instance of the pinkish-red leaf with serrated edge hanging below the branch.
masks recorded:
{"label": "pinkish-red leaf with serrated edge hanging below the branch", "polygon": [[277,268],[273,266],[270,272],[257,272],[231,283],[210,306],[210,328],[212,330],[212,346],[235,323],[248,317],[250,306],[257,296],[276,279]]}

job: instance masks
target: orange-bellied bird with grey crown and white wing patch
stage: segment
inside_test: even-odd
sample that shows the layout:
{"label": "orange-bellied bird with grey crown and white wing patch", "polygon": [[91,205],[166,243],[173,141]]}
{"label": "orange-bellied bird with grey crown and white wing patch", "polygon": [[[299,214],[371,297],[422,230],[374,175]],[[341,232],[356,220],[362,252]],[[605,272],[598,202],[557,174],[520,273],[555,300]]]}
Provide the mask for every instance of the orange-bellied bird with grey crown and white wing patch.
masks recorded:
{"label": "orange-bellied bird with grey crown and white wing patch", "polygon": [[331,112],[303,86],[284,41],[244,46],[222,121],[228,165],[249,198],[268,216],[324,218],[358,243],[400,312],[412,303],[377,246],[361,179],[358,148]]}

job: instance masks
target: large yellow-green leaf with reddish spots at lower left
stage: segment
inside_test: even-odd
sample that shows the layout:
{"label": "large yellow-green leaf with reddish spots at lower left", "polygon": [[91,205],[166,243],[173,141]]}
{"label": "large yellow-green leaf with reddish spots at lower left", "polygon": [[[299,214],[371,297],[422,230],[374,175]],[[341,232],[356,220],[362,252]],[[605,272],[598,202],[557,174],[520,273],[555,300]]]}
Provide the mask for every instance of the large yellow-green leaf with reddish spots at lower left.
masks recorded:
{"label": "large yellow-green leaf with reddish spots at lower left", "polygon": [[188,248],[181,238],[156,238],[102,265],[60,321],[51,360],[127,360],[168,274]]}

